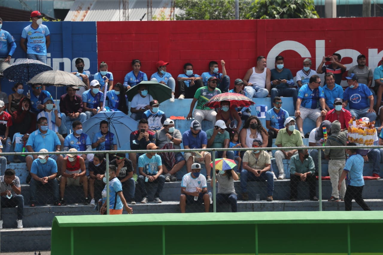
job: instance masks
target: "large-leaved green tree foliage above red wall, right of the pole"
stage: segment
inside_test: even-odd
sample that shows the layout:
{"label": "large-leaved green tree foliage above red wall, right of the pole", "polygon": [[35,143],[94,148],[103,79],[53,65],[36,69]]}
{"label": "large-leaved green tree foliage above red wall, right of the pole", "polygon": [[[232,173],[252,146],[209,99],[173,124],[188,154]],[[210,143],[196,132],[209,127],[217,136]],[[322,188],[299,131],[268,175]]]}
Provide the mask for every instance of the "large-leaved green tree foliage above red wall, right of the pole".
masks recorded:
{"label": "large-leaved green tree foliage above red wall, right of the pole", "polygon": [[255,0],[247,19],[319,18],[314,0]]}

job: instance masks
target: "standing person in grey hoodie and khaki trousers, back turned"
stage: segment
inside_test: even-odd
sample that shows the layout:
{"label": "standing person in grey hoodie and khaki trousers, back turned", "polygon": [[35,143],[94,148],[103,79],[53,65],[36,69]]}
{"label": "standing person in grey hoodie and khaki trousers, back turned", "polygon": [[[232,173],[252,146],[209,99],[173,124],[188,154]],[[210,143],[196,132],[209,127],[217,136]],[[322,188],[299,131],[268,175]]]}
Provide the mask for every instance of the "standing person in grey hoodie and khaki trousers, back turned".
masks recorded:
{"label": "standing person in grey hoodie and khaki trousers, back turned", "polygon": [[[331,124],[331,136],[327,138],[326,146],[345,146],[347,141],[347,131],[341,131],[340,122],[334,121]],[[346,155],[344,149],[325,149],[324,157],[329,160],[329,175],[332,186],[331,198],[328,201],[338,202],[344,201],[346,193],[345,181],[338,190],[338,181],[342,175],[344,165],[346,163]]]}

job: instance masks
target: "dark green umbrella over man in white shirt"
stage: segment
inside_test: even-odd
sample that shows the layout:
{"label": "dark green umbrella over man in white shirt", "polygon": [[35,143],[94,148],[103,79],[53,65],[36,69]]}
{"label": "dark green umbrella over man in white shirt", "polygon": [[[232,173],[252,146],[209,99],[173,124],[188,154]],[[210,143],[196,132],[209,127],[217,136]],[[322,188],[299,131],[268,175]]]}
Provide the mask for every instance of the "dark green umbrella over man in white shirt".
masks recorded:
{"label": "dark green umbrella over man in white shirt", "polygon": [[[153,97],[154,100],[157,100],[159,103],[162,103],[163,101],[166,101],[170,98],[172,98],[172,89],[168,86],[161,84],[159,82],[153,82],[153,81],[142,81],[138,83],[136,86],[133,86],[129,88],[129,90],[126,92],[126,95],[128,96],[128,100],[132,101],[133,96],[137,95],[139,85],[146,84],[147,85],[147,91],[149,95]],[[148,102],[149,105],[149,102]]]}

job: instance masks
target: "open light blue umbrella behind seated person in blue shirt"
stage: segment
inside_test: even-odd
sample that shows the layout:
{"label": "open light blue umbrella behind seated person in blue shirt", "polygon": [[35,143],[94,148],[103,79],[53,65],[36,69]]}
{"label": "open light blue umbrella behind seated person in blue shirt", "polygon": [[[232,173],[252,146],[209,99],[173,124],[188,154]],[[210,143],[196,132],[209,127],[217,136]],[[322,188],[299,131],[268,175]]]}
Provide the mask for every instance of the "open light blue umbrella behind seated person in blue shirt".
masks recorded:
{"label": "open light blue umbrella behind seated person in blue shirt", "polygon": [[117,147],[120,149],[129,142],[130,133],[137,130],[137,121],[122,111],[100,111],[82,123],[83,132],[92,140],[93,136],[100,131],[100,122],[103,120],[108,121],[109,131],[115,134]]}

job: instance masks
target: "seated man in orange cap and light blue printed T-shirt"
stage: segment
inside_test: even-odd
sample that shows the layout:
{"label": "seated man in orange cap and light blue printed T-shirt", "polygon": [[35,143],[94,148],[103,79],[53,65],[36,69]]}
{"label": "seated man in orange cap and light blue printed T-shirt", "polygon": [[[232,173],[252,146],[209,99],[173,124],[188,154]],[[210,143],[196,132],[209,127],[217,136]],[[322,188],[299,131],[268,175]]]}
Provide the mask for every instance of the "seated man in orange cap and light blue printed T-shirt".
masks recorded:
{"label": "seated man in orange cap and light blue printed T-shirt", "polygon": [[[147,150],[158,150],[159,147],[154,143],[150,143],[146,146]],[[145,182],[149,182],[149,185],[158,183],[157,191],[154,194],[154,203],[162,203],[160,199],[160,193],[165,184],[165,176],[162,175],[162,161],[161,157],[156,152],[148,152],[142,154],[138,158],[138,170],[140,176],[138,177],[138,188],[142,195],[141,204],[146,204],[148,201],[147,192],[145,189]]]}

